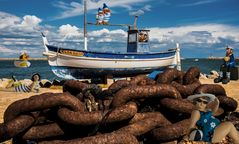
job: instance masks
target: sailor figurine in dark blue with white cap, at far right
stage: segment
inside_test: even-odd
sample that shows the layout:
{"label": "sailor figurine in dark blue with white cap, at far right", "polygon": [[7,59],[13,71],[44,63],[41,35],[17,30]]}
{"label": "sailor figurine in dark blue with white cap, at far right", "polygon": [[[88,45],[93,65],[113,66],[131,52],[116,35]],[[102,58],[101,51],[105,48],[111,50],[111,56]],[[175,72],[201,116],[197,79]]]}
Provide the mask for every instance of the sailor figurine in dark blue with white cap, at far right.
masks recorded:
{"label": "sailor figurine in dark blue with white cap, at far right", "polygon": [[[235,67],[235,58],[233,55],[233,48],[226,48],[226,56],[223,58],[223,64],[220,67],[219,77],[214,79],[215,83],[222,82],[223,84],[227,84],[230,82],[230,69]],[[226,69],[226,70],[225,70]]]}

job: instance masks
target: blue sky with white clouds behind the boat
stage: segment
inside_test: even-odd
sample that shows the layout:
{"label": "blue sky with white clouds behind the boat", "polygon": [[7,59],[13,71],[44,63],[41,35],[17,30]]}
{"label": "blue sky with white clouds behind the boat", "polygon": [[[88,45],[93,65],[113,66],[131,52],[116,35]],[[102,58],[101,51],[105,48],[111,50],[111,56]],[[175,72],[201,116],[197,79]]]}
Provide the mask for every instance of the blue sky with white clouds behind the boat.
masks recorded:
{"label": "blue sky with white clouds behind the boat", "polygon": [[[112,24],[133,24],[140,14],[137,26],[150,30],[151,51],[179,43],[185,58],[223,57],[229,45],[239,57],[238,0],[87,0],[89,22],[103,3]],[[0,57],[43,57],[40,32],[50,44],[83,49],[82,0],[0,0]],[[125,52],[126,37],[126,27],[88,26],[89,50]]]}

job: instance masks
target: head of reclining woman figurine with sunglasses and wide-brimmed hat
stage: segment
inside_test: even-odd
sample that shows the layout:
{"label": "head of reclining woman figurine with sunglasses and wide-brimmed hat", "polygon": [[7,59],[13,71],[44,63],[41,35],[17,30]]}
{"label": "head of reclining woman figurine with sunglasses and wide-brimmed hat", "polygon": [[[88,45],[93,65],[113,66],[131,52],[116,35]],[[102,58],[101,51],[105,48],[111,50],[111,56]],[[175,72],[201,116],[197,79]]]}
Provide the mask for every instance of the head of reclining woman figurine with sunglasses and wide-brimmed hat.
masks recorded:
{"label": "head of reclining woman figurine with sunglasses and wide-brimmed hat", "polygon": [[201,93],[191,95],[187,99],[195,104],[196,109],[206,110],[207,104],[214,101],[215,95],[209,93]]}

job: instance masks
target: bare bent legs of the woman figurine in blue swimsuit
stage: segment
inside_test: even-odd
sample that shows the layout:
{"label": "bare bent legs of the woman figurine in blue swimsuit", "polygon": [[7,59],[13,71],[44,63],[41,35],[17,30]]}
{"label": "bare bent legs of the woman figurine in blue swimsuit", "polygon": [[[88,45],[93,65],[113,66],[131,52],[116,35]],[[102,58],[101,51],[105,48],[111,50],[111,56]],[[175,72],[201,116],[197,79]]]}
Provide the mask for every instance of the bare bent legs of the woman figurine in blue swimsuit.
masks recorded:
{"label": "bare bent legs of the woman figurine in blue swimsuit", "polygon": [[219,143],[226,136],[229,136],[234,144],[239,144],[239,133],[231,122],[223,122],[214,130],[212,143]]}

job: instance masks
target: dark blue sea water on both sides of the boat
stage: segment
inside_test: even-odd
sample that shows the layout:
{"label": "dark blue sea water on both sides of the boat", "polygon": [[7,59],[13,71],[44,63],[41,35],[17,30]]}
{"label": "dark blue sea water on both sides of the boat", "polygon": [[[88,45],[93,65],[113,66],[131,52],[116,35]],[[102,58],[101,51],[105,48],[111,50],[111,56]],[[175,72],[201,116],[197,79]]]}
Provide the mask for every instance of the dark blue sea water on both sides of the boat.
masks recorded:
{"label": "dark blue sea water on both sides of the boat", "polygon": [[[30,67],[18,68],[15,67],[13,60],[0,60],[0,78],[11,78],[14,75],[19,80],[30,79],[33,73],[39,73],[42,79],[62,80],[51,71],[47,60],[30,60],[30,62]],[[222,63],[222,59],[183,59],[181,61],[183,71],[187,71],[192,66],[197,66],[204,74],[210,74],[212,70],[219,71]],[[236,60],[236,65],[239,65],[239,60]]]}

